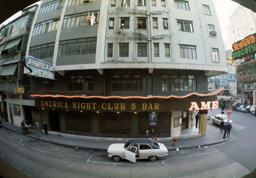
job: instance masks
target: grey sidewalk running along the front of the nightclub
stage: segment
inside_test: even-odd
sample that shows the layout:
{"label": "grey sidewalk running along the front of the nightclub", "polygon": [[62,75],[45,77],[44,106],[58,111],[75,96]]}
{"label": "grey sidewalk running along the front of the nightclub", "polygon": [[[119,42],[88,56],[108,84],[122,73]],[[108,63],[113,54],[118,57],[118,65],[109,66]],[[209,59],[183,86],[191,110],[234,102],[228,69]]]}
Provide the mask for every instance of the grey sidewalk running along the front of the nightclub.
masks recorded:
{"label": "grey sidewalk running along the front of the nightclub", "polygon": [[[22,134],[22,129],[19,126],[10,124],[8,122],[3,122],[3,127],[12,130],[16,133]],[[200,137],[192,137],[192,138],[179,138],[177,141],[177,147],[173,147],[172,140],[163,140],[158,141],[163,143],[168,151],[174,151],[177,148],[179,149],[189,149],[196,148],[198,146],[209,146],[222,142],[226,142],[233,137],[231,133],[231,137],[227,137],[223,139],[223,134],[220,133],[220,129],[217,126],[212,125],[212,122],[207,122],[206,136]],[[53,134],[54,133],[54,134]],[[108,146],[113,143],[125,143],[126,140],[99,140],[99,139],[85,139],[85,138],[77,138],[61,135],[59,132],[49,132],[48,135],[45,135],[44,131],[38,131],[31,129],[31,133],[26,134],[27,137],[38,139],[44,142],[53,143],[57,145],[63,145],[68,147],[78,147],[84,149],[92,149],[92,150],[107,150]]]}

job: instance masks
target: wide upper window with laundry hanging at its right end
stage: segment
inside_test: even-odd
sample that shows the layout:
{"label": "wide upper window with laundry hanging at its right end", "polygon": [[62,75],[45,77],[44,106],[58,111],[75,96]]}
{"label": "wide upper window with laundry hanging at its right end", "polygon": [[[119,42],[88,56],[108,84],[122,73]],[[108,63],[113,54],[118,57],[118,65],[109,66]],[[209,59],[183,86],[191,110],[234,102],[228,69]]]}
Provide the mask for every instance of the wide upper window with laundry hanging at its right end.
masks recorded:
{"label": "wide upper window with laundry hanging at its right end", "polygon": [[[94,18],[93,18],[94,23],[93,24],[98,22],[98,13],[99,13],[99,11],[93,12],[93,16],[94,16]],[[92,14],[90,12],[83,12],[83,13],[79,13],[79,14],[64,16],[62,28],[90,25],[92,17],[89,20],[88,15],[92,16]],[[88,22],[88,20],[89,20],[89,22]]]}

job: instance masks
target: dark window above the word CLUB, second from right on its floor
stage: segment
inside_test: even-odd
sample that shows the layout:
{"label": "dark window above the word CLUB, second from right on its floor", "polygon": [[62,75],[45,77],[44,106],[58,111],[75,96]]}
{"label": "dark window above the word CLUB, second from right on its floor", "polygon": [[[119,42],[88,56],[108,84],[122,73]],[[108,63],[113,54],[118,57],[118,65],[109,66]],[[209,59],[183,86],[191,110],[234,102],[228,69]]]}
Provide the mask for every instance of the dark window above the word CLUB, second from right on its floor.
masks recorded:
{"label": "dark window above the word CLUB, second from right on its floor", "polygon": [[141,91],[141,75],[112,75],[112,91]]}

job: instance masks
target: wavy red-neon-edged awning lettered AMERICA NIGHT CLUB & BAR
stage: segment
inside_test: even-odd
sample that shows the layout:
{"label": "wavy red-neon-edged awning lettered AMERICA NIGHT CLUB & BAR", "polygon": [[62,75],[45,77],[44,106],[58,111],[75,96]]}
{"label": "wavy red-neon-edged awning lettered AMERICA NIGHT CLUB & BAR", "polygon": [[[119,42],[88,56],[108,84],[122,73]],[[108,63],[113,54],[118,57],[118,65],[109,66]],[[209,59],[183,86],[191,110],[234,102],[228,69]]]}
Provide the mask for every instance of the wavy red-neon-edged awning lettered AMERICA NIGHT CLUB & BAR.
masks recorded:
{"label": "wavy red-neon-edged awning lettered AMERICA NIGHT CLUB & BAR", "polygon": [[[37,108],[95,111],[95,112],[171,112],[217,109],[217,95],[224,88],[212,93],[190,93],[184,96],[65,96],[30,95],[35,97]],[[207,103],[207,104],[206,104]]]}

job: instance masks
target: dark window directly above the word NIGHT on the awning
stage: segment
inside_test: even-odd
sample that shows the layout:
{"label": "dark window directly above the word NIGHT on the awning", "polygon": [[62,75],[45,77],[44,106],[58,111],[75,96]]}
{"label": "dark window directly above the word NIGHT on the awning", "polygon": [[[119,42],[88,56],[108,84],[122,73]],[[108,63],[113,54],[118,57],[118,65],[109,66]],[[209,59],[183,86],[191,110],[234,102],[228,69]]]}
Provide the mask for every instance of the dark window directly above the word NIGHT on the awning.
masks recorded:
{"label": "dark window directly above the word NIGHT on the awning", "polygon": [[93,91],[93,76],[68,76],[68,90]]}

